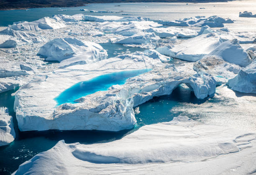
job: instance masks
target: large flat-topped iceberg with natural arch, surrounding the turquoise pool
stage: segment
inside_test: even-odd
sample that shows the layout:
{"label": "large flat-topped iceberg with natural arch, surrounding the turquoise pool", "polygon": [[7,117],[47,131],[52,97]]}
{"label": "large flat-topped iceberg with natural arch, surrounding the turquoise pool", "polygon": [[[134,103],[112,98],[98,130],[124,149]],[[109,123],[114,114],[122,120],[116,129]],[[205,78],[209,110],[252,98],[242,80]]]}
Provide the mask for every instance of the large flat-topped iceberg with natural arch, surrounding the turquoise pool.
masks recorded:
{"label": "large flat-topped iceberg with natural arch, surrounding the turquoise pool", "polygon": [[[136,124],[133,107],[154,96],[171,94],[179,84],[190,86],[199,99],[214,95],[216,81],[209,74],[197,74],[191,64],[177,68],[168,64],[161,65],[163,63],[156,53],[146,52],[145,55],[125,54],[38,75],[27,85],[27,89],[23,88],[15,95],[18,126],[21,131],[119,131],[131,129]],[[81,97],[75,100],[75,104],[65,103],[56,107],[54,97],[80,81],[110,72],[145,68],[153,70],[128,79],[122,86],[112,86],[107,91]]]}

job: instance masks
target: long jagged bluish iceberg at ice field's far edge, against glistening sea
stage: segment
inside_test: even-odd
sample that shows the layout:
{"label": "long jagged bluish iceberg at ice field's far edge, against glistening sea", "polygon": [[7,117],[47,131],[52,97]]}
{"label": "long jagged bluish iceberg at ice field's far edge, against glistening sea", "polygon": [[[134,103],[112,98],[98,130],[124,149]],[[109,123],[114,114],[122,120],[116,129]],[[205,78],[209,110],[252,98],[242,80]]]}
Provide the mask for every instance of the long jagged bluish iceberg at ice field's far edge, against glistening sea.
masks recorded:
{"label": "long jagged bluish iceberg at ice field's far edge, against glistening sea", "polygon": [[233,20],[221,18],[218,16],[210,16],[209,18],[205,18],[205,16],[196,16],[194,18],[184,18],[183,20],[159,20],[159,24],[163,25],[177,25],[177,26],[205,26],[216,28],[216,27],[224,27],[223,23],[234,23]]}

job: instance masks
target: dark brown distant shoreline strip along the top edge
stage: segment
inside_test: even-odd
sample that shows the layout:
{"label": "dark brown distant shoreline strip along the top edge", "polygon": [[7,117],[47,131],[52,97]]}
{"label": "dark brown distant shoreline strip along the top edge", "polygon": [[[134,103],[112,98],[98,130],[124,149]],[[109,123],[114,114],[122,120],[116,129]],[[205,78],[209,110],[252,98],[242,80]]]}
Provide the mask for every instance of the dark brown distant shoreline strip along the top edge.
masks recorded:
{"label": "dark brown distant shoreline strip along the top edge", "polygon": [[[24,3],[28,1],[31,3]],[[26,10],[31,8],[70,8],[70,7],[82,7],[92,3],[220,3],[228,2],[233,0],[46,0],[44,4],[34,3],[33,0],[18,0],[15,2],[9,2],[2,0],[0,2],[0,10]]]}

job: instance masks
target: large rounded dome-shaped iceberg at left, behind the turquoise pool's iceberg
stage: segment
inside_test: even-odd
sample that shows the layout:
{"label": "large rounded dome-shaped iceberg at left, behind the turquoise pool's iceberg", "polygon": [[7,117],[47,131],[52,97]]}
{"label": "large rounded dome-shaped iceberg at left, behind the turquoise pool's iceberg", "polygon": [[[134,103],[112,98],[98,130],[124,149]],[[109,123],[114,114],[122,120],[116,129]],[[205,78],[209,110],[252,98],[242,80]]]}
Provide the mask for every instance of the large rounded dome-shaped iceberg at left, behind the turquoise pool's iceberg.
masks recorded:
{"label": "large rounded dome-shaped iceberg at left, behind the turquoise pool's iceberg", "polygon": [[99,44],[81,41],[76,38],[56,38],[51,40],[40,48],[38,55],[46,57],[47,61],[60,62],[64,59],[87,53],[94,54],[92,60],[107,58],[106,51]]}

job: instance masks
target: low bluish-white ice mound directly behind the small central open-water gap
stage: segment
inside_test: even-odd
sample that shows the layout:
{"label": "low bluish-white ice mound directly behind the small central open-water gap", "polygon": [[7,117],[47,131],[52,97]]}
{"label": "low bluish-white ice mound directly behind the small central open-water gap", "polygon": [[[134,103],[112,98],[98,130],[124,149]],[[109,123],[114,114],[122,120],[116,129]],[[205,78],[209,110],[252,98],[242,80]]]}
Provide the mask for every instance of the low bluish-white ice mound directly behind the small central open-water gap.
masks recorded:
{"label": "low bluish-white ice mound directly behind the small central open-water gap", "polygon": [[152,43],[160,39],[155,33],[137,33],[128,38],[121,38],[118,41],[114,41],[116,44],[142,44],[142,43]]}

